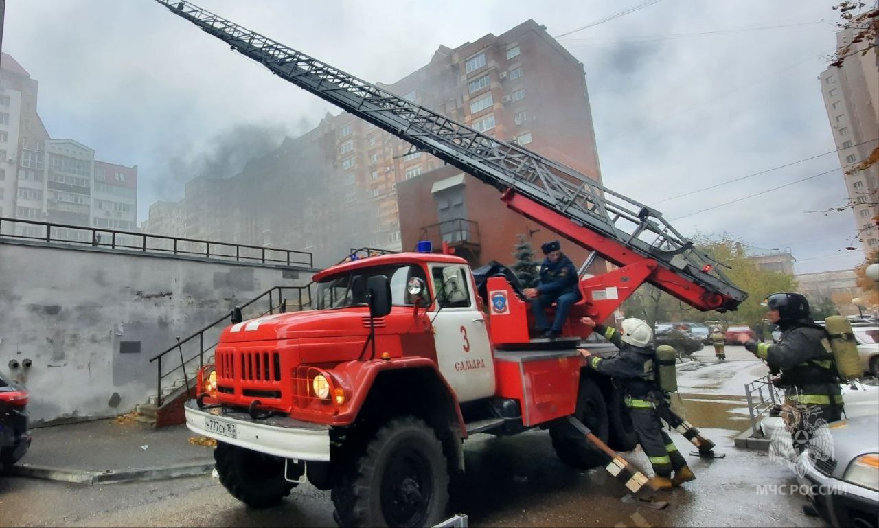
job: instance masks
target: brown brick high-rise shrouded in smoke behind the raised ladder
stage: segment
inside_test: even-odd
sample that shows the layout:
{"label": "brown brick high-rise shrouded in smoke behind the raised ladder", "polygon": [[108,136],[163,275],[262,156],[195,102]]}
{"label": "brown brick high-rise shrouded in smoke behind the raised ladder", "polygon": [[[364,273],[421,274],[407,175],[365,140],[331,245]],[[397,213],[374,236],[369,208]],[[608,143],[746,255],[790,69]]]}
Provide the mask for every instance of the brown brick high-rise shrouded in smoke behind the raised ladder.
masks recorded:
{"label": "brown brick high-rise shrouded in smoke behind the raised ladder", "polygon": [[[455,49],[440,46],[423,68],[379,86],[600,181],[583,65],[534,20]],[[270,169],[279,160],[289,164]],[[396,184],[444,164],[350,113],[328,114],[229,178],[242,182],[234,191],[206,178],[199,203],[188,186],[181,203],[187,230],[228,222],[219,240],[297,247],[328,264],[350,248],[403,250]],[[291,192],[287,204],[272,205]],[[171,211],[150,207],[145,228],[166,226],[153,217]]]}

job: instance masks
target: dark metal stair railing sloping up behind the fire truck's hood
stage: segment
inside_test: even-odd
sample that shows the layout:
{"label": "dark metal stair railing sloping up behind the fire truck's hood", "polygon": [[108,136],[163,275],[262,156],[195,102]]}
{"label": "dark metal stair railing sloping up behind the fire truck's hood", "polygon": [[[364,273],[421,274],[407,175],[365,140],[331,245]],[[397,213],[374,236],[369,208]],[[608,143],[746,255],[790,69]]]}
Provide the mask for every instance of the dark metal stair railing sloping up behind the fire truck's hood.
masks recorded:
{"label": "dark metal stair railing sloping up behind the fire truck's hood", "polygon": [[[311,307],[312,285],[314,285],[314,282],[309,282],[309,284],[305,286],[274,286],[272,289],[236,308],[241,310],[243,320],[261,317],[263,315],[284,314],[287,312],[300,312],[307,310]],[[287,295],[287,292],[293,292],[293,294]],[[268,301],[267,305],[260,302],[265,300]],[[222,329],[229,326],[232,322],[233,312],[234,310],[229,312],[228,315],[224,315],[220,319],[211,322],[204,328],[197,330],[192,336],[188,336],[182,340],[178,337],[178,342],[176,344],[173,344],[167,350],[162,351],[149,359],[150,363],[157,362],[156,407],[161,406],[163,402],[162,389],[164,380],[171,378],[171,375],[175,374],[175,372],[182,371],[180,374],[182,374],[187,387],[189,387],[190,379],[192,378],[194,380],[194,376],[190,376],[190,373],[186,372],[186,367],[194,367],[196,359],[199,360],[198,370],[205,365],[206,358],[207,362],[210,362],[211,353],[219,342],[219,336]],[[211,344],[206,347],[206,342]],[[193,353],[192,348],[196,344],[198,345],[198,349]],[[187,349],[186,351],[184,351],[184,347]],[[166,358],[169,354],[171,357]],[[179,364],[176,362],[178,355]],[[174,366],[163,372],[163,365],[167,368],[169,366],[169,360],[174,361],[171,364]],[[176,376],[174,379],[176,379]]]}

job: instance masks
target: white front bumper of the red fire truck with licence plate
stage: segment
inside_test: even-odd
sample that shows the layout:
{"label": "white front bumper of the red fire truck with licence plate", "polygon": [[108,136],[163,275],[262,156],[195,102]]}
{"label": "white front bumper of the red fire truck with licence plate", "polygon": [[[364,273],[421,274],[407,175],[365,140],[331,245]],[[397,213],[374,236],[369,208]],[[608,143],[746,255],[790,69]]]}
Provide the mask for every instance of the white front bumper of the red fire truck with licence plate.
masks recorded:
{"label": "white front bumper of the red fire truck with licence plate", "polygon": [[[186,427],[219,442],[285,459],[330,461],[329,425],[283,416],[254,420],[247,413],[230,409],[199,409],[195,400],[186,401],[184,410]],[[235,438],[208,430],[208,420],[234,425]]]}

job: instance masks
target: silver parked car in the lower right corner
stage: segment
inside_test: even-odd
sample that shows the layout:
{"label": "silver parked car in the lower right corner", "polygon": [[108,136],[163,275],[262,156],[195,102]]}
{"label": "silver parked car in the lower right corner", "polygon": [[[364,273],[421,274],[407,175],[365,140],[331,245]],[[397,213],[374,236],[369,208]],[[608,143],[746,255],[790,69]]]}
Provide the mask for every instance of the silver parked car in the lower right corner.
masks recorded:
{"label": "silver parked car in the lower right corner", "polygon": [[879,524],[879,415],[831,424],[832,458],[807,448],[797,480],[818,515],[833,526]]}

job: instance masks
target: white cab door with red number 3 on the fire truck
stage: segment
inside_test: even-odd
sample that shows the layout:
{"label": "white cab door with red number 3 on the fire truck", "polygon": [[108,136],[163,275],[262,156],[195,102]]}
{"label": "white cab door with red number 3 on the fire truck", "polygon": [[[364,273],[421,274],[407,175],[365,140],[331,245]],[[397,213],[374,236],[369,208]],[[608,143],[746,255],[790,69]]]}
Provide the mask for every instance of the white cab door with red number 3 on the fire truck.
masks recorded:
{"label": "white cab door with red number 3 on the fire truck", "polygon": [[469,266],[429,264],[433,339],[439,372],[458,401],[495,394],[495,372],[485,315],[476,307]]}

